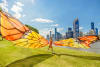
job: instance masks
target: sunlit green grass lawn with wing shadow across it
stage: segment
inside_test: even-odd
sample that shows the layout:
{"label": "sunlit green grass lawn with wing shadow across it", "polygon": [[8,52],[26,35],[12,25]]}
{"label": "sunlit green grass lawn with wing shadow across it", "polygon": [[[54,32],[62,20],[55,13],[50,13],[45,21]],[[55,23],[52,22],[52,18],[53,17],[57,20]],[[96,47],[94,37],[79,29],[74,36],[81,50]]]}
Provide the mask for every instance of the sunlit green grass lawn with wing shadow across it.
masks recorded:
{"label": "sunlit green grass lawn with wing shadow across it", "polygon": [[0,41],[0,67],[100,67],[100,54],[54,47],[29,49]]}

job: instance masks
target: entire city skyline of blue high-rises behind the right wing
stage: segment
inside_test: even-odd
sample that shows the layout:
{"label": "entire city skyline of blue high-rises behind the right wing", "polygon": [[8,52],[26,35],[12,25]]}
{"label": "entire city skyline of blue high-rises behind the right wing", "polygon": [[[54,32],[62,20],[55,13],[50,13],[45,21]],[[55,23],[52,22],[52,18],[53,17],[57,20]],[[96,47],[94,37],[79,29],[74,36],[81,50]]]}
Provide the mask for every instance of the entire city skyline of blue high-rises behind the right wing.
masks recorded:
{"label": "entire city skyline of blue high-rises behind the right wing", "polygon": [[[87,33],[84,33],[79,29],[79,20],[76,18],[73,22],[73,27],[68,27],[68,30],[64,33],[64,35],[61,32],[57,31],[57,27],[54,28],[54,30],[50,30],[49,34],[47,34],[46,38],[49,40],[50,37],[53,38],[53,40],[60,40],[60,39],[66,39],[66,38],[78,38],[80,36],[84,35],[96,35],[98,36],[99,30],[95,26],[94,22],[91,22],[90,25],[90,30],[88,30]],[[53,32],[53,33],[52,33]]]}

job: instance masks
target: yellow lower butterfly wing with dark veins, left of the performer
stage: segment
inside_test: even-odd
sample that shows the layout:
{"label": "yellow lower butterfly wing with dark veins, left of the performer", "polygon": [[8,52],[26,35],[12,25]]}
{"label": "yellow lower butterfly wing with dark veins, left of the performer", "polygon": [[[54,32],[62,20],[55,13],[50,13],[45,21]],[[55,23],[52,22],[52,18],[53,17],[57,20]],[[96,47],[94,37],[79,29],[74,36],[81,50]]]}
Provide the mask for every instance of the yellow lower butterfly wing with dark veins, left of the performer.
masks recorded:
{"label": "yellow lower butterfly wing with dark veins, left of the performer", "polygon": [[25,33],[23,38],[13,42],[25,48],[40,48],[48,45],[48,40],[34,31]]}

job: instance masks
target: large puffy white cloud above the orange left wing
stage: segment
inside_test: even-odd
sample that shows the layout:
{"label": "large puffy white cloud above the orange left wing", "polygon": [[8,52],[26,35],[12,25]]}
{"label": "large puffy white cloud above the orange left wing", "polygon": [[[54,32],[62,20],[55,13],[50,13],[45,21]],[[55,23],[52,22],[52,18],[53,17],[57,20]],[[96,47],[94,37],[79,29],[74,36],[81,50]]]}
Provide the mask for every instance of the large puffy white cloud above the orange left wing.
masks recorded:
{"label": "large puffy white cloud above the orange left wing", "polygon": [[21,12],[23,11],[22,9],[22,6],[24,6],[24,4],[22,4],[21,2],[16,2],[11,10],[15,13],[13,16],[16,17],[16,18],[21,18],[22,17],[22,14]]}

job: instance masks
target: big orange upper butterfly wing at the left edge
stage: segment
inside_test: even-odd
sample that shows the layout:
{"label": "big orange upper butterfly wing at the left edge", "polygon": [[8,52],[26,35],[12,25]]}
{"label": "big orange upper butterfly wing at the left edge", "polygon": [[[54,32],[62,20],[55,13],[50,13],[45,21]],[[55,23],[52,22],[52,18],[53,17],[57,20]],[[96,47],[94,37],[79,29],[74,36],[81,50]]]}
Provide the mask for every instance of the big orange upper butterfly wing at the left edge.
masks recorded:
{"label": "big orange upper butterfly wing at the left edge", "polygon": [[17,40],[29,29],[21,24],[17,19],[8,16],[6,13],[0,11],[1,15],[1,34],[7,40]]}

